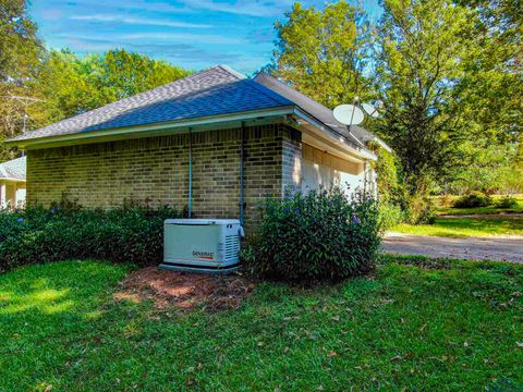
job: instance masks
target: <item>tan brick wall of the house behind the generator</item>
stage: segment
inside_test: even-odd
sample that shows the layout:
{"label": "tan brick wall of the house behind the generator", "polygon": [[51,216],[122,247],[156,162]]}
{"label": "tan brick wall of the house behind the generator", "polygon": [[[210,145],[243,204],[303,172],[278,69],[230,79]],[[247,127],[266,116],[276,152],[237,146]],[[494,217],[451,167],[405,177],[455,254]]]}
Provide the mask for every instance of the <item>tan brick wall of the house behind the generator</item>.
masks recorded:
{"label": "tan brick wall of the house behind the generator", "polygon": [[[125,200],[183,209],[188,195],[188,134],[27,151],[27,204],[62,196],[85,207]],[[194,217],[240,216],[241,128],[192,134]],[[301,133],[283,124],[245,130],[246,220],[266,195],[301,182]]]}

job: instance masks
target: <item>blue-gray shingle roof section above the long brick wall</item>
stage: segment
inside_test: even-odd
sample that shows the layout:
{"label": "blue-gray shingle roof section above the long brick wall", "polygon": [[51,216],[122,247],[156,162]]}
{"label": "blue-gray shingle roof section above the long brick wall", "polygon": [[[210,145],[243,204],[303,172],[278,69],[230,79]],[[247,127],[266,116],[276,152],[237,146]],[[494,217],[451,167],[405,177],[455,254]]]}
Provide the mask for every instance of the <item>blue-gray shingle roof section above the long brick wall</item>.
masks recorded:
{"label": "blue-gray shingle roof section above the long brick wall", "polygon": [[292,105],[290,100],[256,82],[219,65],[27,132],[11,140],[156,124]]}

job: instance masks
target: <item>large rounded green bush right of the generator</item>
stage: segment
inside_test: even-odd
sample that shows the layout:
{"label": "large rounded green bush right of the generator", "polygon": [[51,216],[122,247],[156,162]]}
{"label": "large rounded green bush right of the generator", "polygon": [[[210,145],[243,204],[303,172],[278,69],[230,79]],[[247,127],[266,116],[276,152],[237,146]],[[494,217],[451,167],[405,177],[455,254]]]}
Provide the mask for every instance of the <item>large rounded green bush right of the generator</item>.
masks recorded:
{"label": "large rounded green bush right of the generator", "polygon": [[380,245],[377,203],[340,189],[268,199],[259,226],[255,268],[264,277],[336,281],[372,269]]}

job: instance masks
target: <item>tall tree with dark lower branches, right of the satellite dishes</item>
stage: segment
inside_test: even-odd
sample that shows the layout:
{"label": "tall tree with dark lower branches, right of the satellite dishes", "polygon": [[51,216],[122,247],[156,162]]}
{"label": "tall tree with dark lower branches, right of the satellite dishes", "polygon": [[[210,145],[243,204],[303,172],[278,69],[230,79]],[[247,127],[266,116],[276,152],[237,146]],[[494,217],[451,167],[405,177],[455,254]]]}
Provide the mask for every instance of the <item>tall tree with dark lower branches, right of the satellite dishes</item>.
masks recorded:
{"label": "tall tree with dark lower branches, right of the satellite dishes", "polygon": [[378,131],[400,157],[411,194],[459,162],[465,124],[453,106],[473,15],[449,0],[385,0],[377,29]]}

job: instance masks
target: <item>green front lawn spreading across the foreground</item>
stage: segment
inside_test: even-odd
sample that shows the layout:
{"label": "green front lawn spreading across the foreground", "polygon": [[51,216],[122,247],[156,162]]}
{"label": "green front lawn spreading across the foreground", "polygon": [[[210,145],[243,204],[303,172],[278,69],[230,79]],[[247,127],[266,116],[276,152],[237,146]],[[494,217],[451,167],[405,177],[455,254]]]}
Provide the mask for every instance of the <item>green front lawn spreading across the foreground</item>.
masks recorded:
{"label": "green front lawn spreading across the foreground", "polygon": [[0,391],[523,385],[522,266],[389,256],[372,278],[264,283],[239,310],[183,316],[113,302],[127,271],[70,261],[0,275]]}

